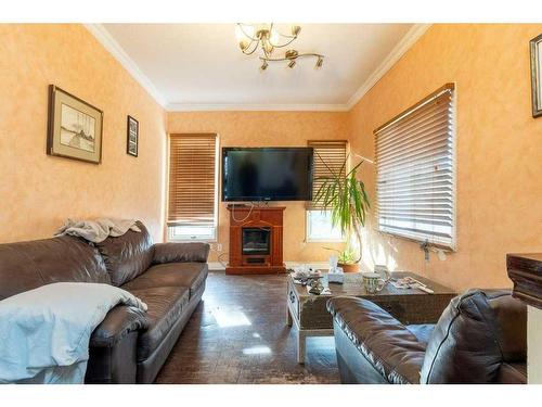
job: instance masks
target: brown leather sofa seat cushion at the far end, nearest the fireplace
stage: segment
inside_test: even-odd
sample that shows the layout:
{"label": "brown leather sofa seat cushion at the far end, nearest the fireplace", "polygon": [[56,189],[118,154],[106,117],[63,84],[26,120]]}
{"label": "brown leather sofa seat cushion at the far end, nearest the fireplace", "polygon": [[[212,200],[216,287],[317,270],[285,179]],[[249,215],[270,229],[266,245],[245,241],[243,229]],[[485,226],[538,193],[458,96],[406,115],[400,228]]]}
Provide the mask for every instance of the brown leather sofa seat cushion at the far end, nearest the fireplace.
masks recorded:
{"label": "brown leather sofa seat cushion at the far end, nearest the fireplace", "polygon": [[153,287],[186,287],[192,297],[205,282],[208,268],[205,263],[166,263],[151,266],[141,276],[122,285],[132,289],[150,289]]}

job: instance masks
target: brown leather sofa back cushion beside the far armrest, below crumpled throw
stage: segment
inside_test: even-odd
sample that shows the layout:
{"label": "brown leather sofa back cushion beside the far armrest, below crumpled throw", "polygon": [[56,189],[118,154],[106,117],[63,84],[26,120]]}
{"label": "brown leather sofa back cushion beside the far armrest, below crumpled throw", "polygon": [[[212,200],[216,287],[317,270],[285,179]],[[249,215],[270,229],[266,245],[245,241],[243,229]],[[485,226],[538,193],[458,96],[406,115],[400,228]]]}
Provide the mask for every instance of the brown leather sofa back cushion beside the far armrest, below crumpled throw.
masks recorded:
{"label": "brown leather sofa back cushion beside the far armrest, below crumpled throw", "polygon": [[108,237],[103,242],[96,243],[111,280],[117,287],[141,275],[153,262],[154,247],[151,234],[141,221],[136,225],[141,232],[128,230],[122,236]]}

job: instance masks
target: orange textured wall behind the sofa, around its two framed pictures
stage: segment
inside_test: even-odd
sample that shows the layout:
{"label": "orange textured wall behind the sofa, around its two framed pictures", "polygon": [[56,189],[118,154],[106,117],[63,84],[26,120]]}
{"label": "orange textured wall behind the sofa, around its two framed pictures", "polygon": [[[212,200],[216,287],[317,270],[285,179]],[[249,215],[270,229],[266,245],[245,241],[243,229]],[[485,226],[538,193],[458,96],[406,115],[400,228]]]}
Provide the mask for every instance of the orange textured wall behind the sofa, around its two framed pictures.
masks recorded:
{"label": "orange textured wall behind the sofa, around its two framed pictures", "polygon": [[[81,25],[0,25],[0,242],[66,217],[133,217],[162,240],[164,110]],[[46,154],[48,85],[104,112],[102,164]],[[126,154],[126,116],[140,123]]]}

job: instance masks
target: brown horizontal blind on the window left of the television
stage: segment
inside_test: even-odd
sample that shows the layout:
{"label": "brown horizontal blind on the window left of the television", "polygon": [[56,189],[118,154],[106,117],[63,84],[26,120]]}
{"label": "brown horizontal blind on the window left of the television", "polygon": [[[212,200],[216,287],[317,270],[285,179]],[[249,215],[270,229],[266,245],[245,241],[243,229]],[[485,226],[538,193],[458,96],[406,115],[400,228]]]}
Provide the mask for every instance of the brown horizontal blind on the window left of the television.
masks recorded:
{"label": "brown horizontal blind on the window left of the television", "polygon": [[170,135],[168,226],[216,225],[216,135]]}

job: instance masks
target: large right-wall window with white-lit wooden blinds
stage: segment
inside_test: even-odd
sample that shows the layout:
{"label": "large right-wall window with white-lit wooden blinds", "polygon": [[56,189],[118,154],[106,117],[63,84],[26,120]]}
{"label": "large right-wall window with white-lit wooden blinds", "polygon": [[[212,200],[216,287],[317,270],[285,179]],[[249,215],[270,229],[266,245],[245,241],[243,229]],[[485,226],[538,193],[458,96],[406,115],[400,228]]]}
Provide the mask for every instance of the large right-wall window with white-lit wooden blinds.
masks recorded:
{"label": "large right-wall window with white-lit wooden blinds", "polygon": [[374,131],[378,229],[454,249],[454,85]]}

